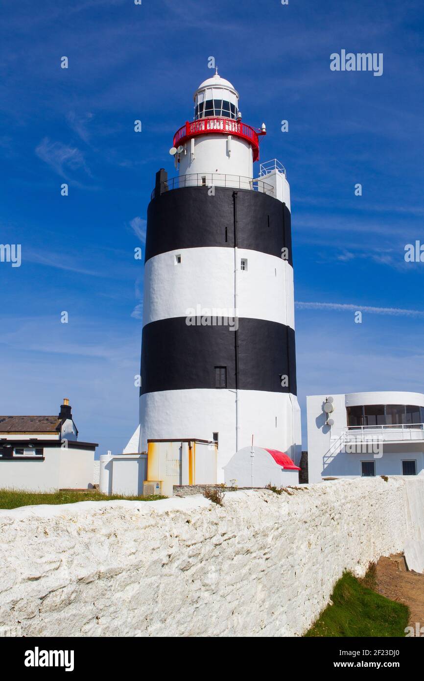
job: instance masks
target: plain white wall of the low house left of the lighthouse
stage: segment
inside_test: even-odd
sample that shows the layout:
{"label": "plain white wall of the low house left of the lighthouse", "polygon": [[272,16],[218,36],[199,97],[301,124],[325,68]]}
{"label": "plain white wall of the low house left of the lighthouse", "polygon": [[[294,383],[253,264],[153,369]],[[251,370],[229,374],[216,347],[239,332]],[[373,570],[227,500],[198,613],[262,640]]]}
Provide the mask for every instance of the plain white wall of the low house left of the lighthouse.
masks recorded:
{"label": "plain white wall of the low house left of the lighthouse", "polygon": [[45,447],[44,461],[2,460],[0,488],[27,492],[86,489],[93,483],[93,462],[94,452],[88,449]]}

